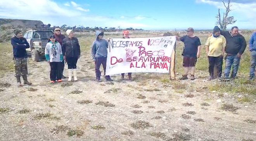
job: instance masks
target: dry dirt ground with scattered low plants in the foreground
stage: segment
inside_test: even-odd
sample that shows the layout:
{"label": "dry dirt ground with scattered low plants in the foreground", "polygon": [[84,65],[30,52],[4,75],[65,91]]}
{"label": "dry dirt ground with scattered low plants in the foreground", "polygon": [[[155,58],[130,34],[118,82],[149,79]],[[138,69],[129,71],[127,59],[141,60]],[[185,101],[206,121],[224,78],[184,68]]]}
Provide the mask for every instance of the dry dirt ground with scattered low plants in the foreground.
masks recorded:
{"label": "dry dirt ground with scattered low plants in the foreground", "polygon": [[194,81],[134,73],[133,81],[114,75],[113,82],[96,82],[89,55],[81,53],[77,82],[50,84],[46,61],[30,61],[32,86],[17,87],[13,73],[0,78],[11,84],[0,89],[0,140],[256,140],[255,102],[239,102],[243,94],[210,92],[217,82],[206,82],[206,72],[197,71]]}

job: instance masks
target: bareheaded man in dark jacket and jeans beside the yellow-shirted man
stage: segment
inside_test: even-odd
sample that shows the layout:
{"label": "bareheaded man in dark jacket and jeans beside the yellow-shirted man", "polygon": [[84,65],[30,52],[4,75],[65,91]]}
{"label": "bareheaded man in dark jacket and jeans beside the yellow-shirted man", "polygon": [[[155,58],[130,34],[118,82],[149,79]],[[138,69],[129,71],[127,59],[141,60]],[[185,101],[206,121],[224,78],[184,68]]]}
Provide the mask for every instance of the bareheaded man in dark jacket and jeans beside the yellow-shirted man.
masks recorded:
{"label": "bareheaded man in dark jacket and jeans beside the yellow-shirted man", "polygon": [[220,34],[223,35],[227,40],[227,46],[225,49],[227,56],[225,58],[226,66],[224,77],[228,78],[232,66],[233,69],[231,78],[235,78],[240,64],[241,55],[246,49],[246,40],[244,39],[244,36],[239,34],[239,29],[237,26],[232,27],[231,32],[221,31]]}

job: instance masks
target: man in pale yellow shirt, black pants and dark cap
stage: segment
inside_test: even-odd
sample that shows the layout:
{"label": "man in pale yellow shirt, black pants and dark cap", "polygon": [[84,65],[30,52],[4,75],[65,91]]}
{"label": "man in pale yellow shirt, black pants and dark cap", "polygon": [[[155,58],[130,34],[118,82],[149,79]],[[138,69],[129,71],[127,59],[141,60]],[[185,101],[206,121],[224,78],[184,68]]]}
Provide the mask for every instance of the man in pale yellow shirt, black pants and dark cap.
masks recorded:
{"label": "man in pale yellow shirt, black pants and dark cap", "polygon": [[222,73],[222,64],[223,64],[223,55],[225,53],[226,39],[224,36],[220,35],[220,28],[214,27],[213,34],[208,37],[206,41],[206,54],[208,55],[209,60],[209,78],[208,80],[213,79],[213,70],[214,65],[217,66],[218,77],[221,77]]}

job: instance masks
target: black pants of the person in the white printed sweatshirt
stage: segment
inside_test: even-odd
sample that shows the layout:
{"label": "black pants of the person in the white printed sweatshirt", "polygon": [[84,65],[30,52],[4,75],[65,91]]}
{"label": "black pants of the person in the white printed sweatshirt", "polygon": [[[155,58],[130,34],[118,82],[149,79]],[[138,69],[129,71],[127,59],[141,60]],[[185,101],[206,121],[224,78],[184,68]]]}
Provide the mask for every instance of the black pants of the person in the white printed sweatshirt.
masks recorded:
{"label": "black pants of the person in the white printed sweatshirt", "polygon": [[50,62],[50,79],[51,81],[55,81],[61,79],[61,62]]}

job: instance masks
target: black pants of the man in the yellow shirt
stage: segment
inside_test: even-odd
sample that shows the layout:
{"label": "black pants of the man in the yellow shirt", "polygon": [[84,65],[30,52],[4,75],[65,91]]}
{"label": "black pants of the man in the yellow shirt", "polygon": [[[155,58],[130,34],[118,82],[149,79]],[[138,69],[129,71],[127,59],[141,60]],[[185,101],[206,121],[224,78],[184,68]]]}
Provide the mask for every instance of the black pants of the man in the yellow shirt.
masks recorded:
{"label": "black pants of the man in the yellow shirt", "polygon": [[218,71],[218,77],[221,77],[223,56],[218,56],[218,57],[208,56],[208,60],[209,60],[209,75],[213,77],[214,65],[216,65],[217,71]]}

